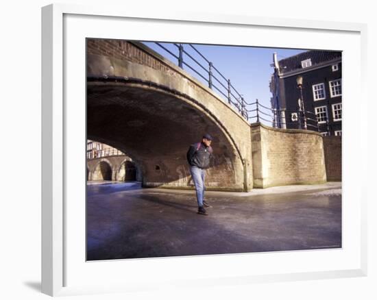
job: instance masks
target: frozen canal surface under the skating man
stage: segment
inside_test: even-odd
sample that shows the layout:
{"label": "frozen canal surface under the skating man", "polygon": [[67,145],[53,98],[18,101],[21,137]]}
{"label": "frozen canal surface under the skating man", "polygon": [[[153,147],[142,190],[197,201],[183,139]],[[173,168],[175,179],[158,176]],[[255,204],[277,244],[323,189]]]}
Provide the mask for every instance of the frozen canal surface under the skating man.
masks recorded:
{"label": "frozen canal surface under the skating man", "polygon": [[88,184],[87,259],[341,247],[341,183],[206,192]]}

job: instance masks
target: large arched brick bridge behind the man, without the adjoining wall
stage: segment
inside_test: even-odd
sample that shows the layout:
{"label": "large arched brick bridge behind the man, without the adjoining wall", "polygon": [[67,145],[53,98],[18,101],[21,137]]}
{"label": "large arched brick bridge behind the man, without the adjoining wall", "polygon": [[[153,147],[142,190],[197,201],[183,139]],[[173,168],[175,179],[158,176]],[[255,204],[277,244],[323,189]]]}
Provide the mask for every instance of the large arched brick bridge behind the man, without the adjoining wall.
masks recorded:
{"label": "large arched brick bridge behind the man, without the adjoining wall", "polygon": [[[137,56],[136,48],[130,53]],[[208,189],[252,188],[250,125],[182,69],[142,52],[136,60],[89,51],[88,138],[127,149],[141,166],[143,186],[185,188],[192,186],[186,151],[210,133]]]}

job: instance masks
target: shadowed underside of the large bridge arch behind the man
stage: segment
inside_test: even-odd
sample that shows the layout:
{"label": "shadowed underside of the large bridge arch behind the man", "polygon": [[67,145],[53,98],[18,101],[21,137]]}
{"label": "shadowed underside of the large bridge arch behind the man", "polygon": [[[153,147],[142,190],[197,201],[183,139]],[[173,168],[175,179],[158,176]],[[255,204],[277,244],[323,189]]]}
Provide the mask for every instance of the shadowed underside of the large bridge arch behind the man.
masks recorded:
{"label": "shadowed underside of the large bridge arch behind the man", "polygon": [[193,186],[186,152],[204,133],[213,136],[208,189],[243,190],[239,150],[198,101],[150,82],[88,77],[88,138],[129,155],[141,167],[143,187]]}

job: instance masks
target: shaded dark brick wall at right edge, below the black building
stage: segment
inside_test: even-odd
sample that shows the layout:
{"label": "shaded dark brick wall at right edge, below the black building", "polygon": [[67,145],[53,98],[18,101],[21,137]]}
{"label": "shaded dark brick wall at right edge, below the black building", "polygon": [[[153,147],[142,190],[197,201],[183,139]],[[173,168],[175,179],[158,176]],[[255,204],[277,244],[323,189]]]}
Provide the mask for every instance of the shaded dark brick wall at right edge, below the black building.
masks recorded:
{"label": "shaded dark brick wall at right edge, below the black building", "polygon": [[341,136],[324,136],[326,174],[329,182],[341,181]]}

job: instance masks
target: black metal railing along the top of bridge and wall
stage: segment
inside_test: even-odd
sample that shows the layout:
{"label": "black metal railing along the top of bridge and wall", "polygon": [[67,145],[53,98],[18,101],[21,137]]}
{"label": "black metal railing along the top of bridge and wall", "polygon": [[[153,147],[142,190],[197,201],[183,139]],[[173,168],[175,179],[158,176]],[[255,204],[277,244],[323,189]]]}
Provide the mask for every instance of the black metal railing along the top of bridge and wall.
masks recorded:
{"label": "black metal railing along the top of bridge and wall", "polygon": [[[180,68],[190,68],[195,74],[208,84],[208,88],[217,90],[230,105],[239,111],[247,121],[257,123],[267,123],[271,127],[278,128],[295,128],[308,129],[319,131],[319,124],[317,116],[310,111],[306,110],[276,110],[267,108],[260,104],[258,99],[253,103],[247,103],[243,95],[234,88],[229,78],[223,75],[213,64],[200,53],[197,48],[191,44],[184,44],[186,47],[193,49],[194,53],[199,55],[199,58],[194,58],[191,53],[186,51],[183,44],[173,43],[173,47],[178,50],[178,53],[167,49],[160,42],[155,42],[163,50],[167,51],[170,55],[178,60]],[[187,57],[188,59],[184,60]],[[202,62],[199,62],[201,60]],[[198,70],[199,68],[199,70]],[[326,121],[328,124],[328,120]]]}

